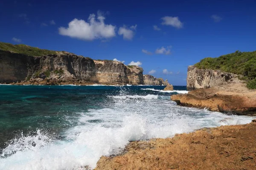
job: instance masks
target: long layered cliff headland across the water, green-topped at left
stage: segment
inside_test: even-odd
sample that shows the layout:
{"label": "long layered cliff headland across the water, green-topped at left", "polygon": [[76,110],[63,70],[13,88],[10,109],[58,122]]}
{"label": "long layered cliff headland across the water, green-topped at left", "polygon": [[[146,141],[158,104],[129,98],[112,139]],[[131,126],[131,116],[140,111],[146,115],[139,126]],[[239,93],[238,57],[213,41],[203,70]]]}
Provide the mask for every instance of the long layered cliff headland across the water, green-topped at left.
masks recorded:
{"label": "long layered cliff headland across the water, green-topped at left", "polygon": [[16,85],[164,85],[143,68],[65,51],[0,42],[0,83]]}

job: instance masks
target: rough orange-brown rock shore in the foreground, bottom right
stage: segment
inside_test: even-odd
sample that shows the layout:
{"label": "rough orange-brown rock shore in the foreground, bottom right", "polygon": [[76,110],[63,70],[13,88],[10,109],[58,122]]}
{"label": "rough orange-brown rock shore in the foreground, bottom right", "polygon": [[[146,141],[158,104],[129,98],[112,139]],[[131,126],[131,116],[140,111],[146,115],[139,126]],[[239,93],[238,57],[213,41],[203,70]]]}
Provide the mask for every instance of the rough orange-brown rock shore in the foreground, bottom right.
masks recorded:
{"label": "rough orange-brown rock shore in the foreground, bottom right", "polygon": [[204,128],[173,138],[130,142],[117,156],[102,156],[95,170],[254,170],[256,120]]}

